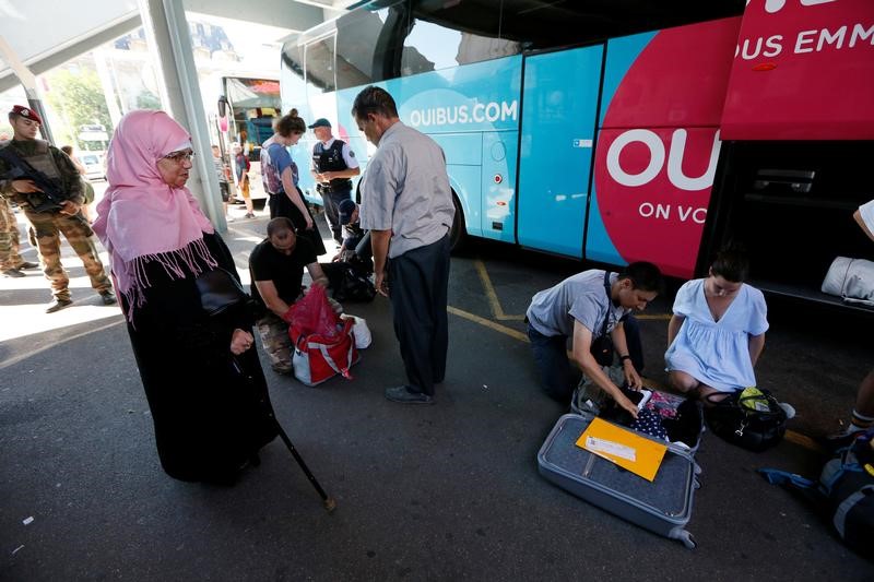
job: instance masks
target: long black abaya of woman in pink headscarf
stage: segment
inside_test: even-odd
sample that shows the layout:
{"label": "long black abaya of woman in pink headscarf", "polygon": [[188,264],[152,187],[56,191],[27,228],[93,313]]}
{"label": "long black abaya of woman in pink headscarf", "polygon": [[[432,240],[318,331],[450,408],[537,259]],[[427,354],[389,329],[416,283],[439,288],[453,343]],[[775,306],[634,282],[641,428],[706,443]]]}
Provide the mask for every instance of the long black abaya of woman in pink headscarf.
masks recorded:
{"label": "long black abaya of woman in pink headscarf", "polygon": [[[204,240],[220,266],[236,276],[221,237],[204,234]],[[146,273],[145,302],[133,307],[128,332],[161,464],[177,479],[233,483],[238,470],[276,436],[255,347],[236,357],[237,367],[231,353],[235,329],[251,333],[251,316],[245,306],[234,306],[209,317],[193,274],[170,280],[157,262],[147,263]]]}

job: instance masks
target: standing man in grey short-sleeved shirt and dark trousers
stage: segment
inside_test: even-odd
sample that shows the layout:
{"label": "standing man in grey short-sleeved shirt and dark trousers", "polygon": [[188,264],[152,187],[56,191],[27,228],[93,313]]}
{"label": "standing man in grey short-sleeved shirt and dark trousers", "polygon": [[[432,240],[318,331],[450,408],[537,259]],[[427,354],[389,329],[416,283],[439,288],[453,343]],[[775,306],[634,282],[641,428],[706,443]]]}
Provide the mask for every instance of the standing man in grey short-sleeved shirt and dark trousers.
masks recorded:
{"label": "standing man in grey short-sleeved shirt and dark trousers", "polygon": [[361,226],[370,230],[376,288],[391,298],[408,378],[406,384],[387,389],[386,397],[430,404],[434,384],[446,373],[449,345],[449,227],[456,211],[446,156],[434,140],[401,122],[394,99],[382,88],[358,93],[352,116],[379,147],[362,179]]}

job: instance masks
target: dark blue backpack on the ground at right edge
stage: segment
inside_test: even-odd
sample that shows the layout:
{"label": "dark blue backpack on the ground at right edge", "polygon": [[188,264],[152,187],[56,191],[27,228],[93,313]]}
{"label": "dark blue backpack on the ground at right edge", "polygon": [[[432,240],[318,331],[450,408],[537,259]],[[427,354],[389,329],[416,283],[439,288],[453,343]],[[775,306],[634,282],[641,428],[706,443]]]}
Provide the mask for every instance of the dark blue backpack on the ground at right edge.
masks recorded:
{"label": "dark blue backpack on the ground at right edge", "polygon": [[874,560],[874,428],[836,451],[818,482],[775,468],[758,472],[769,483],[801,492],[823,511],[847,546]]}

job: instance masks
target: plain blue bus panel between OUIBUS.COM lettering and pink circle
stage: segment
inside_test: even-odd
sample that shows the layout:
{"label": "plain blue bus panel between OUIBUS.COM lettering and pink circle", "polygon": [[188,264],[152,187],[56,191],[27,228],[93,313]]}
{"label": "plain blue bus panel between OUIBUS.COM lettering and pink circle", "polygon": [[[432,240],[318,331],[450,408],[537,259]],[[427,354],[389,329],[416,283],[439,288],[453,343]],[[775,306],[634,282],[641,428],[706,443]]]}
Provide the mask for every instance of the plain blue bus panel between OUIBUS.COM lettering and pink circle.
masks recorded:
{"label": "plain blue bus panel between OUIBUS.COM lettering and pink circle", "polygon": [[582,258],[602,46],[525,58],[518,241]]}

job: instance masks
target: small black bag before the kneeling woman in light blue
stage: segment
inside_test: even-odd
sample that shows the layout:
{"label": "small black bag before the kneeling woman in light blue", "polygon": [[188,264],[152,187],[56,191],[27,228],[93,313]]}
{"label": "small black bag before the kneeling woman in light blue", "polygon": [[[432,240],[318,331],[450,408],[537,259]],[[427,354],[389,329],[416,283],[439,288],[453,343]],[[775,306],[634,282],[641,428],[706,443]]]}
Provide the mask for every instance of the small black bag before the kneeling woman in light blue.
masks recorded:
{"label": "small black bag before the kneeling woman in light blue", "polygon": [[744,396],[744,391],[737,390],[714,402],[713,406],[705,407],[704,416],[710,430],[733,444],[756,452],[780,442],[786,435],[786,412],[770,392],[758,391],[760,395]]}

